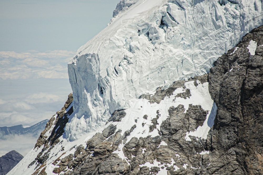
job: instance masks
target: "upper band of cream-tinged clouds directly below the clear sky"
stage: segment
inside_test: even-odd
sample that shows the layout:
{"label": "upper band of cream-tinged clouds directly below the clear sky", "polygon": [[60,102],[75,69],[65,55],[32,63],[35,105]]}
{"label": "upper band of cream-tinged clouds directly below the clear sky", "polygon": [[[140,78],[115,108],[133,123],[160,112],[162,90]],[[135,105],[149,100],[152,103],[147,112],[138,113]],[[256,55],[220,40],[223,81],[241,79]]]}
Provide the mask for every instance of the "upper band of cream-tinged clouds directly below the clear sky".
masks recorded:
{"label": "upper band of cream-tinged clouds directly below the clear sky", "polygon": [[72,51],[0,51],[0,79],[68,78]]}

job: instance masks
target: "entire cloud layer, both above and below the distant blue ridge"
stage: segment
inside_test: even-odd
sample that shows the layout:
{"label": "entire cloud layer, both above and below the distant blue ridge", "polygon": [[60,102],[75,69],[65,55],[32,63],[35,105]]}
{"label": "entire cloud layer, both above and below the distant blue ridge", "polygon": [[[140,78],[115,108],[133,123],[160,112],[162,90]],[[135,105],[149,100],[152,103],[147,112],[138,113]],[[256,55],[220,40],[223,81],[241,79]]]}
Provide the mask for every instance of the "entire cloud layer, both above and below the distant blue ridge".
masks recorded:
{"label": "entire cloud layer, both above and below the distant blue ridge", "polygon": [[[50,119],[72,92],[67,63],[71,51],[0,51],[0,127],[32,126]],[[32,135],[8,135],[0,140],[0,156],[16,150],[23,156],[35,145]]]}

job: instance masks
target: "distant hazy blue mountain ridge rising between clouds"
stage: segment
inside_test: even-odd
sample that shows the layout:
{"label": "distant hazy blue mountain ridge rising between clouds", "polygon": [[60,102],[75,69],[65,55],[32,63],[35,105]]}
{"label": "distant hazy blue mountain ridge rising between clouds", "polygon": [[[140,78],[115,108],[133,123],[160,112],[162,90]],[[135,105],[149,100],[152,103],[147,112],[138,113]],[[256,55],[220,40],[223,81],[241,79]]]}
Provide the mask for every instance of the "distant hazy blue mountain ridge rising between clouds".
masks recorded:
{"label": "distant hazy blue mountain ridge rising between clouds", "polygon": [[33,137],[38,137],[40,133],[45,129],[48,119],[45,119],[31,127],[24,128],[22,124],[11,127],[0,127],[0,139],[5,139],[6,135],[14,134],[33,134]]}

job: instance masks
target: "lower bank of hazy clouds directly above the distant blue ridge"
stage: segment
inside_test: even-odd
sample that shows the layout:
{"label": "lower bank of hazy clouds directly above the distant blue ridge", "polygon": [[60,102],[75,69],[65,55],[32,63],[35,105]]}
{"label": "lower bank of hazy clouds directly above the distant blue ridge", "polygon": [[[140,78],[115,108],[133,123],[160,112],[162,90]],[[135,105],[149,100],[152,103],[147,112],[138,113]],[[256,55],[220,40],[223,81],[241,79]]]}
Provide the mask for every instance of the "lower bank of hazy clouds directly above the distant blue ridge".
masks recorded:
{"label": "lower bank of hazy clouds directly above the distant blue ridge", "polygon": [[50,119],[72,92],[68,79],[0,80],[0,127]]}

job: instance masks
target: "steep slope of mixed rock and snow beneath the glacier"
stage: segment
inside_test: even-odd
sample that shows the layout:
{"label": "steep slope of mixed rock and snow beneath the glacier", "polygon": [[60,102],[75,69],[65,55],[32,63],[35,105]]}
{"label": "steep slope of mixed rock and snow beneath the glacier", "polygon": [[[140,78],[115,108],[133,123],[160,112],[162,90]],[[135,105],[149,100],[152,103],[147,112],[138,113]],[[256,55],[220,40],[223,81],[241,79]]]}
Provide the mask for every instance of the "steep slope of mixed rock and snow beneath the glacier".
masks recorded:
{"label": "steep slope of mixed rock and snow beneath the glacier", "polygon": [[[260,27],[209,74],[142,95],[85,138],[46,139],[23,160],[35,163],[19,163],[9,174],[262,174],[262,53]],[[43,134],[68,121],[56,118]]]}

